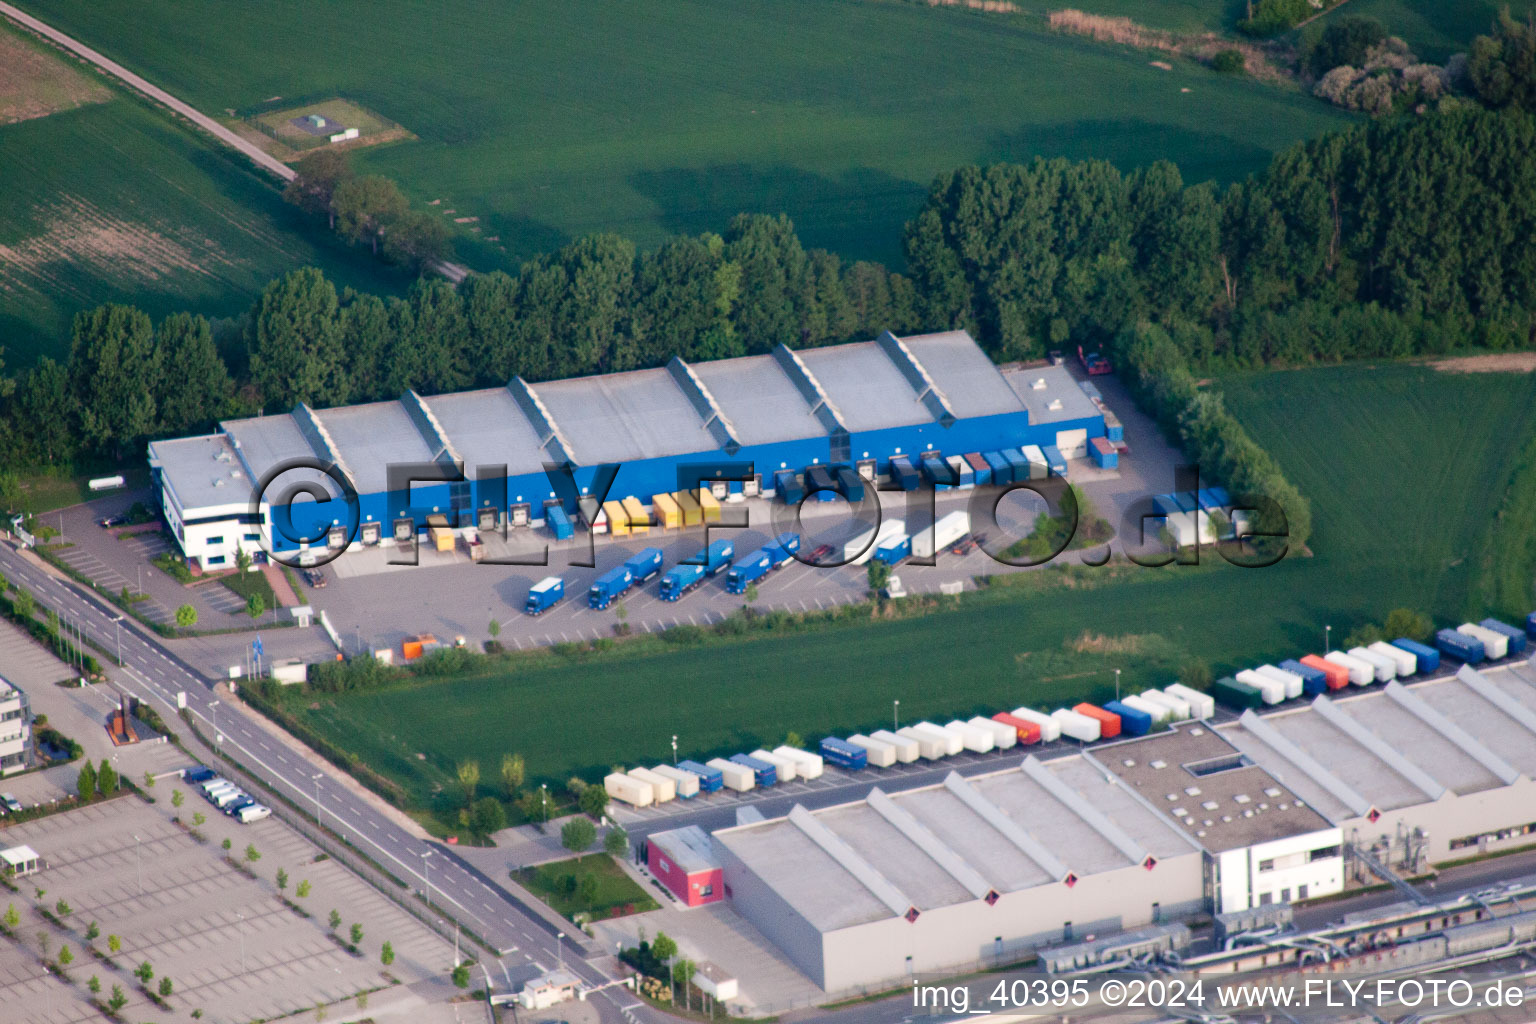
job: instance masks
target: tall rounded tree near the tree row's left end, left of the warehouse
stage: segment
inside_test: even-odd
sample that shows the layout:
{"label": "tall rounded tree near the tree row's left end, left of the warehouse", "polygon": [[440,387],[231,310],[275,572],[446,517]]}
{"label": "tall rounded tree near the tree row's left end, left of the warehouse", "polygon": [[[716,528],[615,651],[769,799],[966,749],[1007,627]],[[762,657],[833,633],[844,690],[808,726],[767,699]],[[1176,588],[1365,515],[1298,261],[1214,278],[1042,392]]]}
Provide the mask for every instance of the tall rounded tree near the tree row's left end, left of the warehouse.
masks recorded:
{"label": "tall rounded tree near the tree row's left end, left of the warehouse", "polygon": [[86,444],[121,451],[155,428],[160,393],[155,332],[132,306],[101,306],[75,315],[69,390]]}

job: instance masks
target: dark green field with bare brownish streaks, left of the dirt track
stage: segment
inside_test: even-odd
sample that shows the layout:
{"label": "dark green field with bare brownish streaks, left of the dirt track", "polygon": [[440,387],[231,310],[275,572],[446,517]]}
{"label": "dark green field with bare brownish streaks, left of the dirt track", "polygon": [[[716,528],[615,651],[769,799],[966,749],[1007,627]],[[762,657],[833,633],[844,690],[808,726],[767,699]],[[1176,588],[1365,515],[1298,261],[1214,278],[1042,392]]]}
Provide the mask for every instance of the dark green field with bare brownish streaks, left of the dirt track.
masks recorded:
{"label": "dark green field with bare brownish streaks, left of the dirt track", "polygon": [[230,316],[306,264],[338,284],[399,287],[318,241],[233,157],[118,94],[0,126],[0,339],[11,368],[61,359],[74,315],[101,302],[157,318]]}

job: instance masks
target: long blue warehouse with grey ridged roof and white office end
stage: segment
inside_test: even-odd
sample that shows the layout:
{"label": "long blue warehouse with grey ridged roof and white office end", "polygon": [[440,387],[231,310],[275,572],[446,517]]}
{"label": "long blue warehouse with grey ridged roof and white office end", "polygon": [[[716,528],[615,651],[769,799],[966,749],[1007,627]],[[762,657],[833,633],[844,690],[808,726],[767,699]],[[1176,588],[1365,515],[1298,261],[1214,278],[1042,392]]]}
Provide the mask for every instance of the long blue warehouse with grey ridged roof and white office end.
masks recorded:
{"label": "long blue warehouse with grey ridged roof and white office end", "polygon": [[[965,332],[791,350],[602,376],[226,421],[214,434],[155,441],[149,464],[178,545],[203,568],[237,550],[304,551],[409,539],[429,525],[538,525],[559,504],[684,490],[690,477],[754,479],[848,464],[866,479],[892,456],[1055,445],[1083,454],[1104,413],[1061,367],[1015,387]],[[293,464],[327,467],[287,468]],[[390,467],[436,467],[402,485]],[[564,467],[559,482],[547,467]],[[502,468],[504,467],[504,468]],[[462,470],[462,481],[449,481]],[[599,494],[605,473],[616,473]],[[430,476],[418,473],[416,476]],[[258,482],[270,479],[260,500]],[[295,487],[341,500],[289,500]],[[570,482],[565,482],[565,481]],[[714,485],[723,491],[723,482]],[[591,502],[587,502],[588,507]],[[278,508],[273,522],[273,507]],[[292,511],[292,516],[286,514]],[[591,511],[591,508],[588,508]]]}

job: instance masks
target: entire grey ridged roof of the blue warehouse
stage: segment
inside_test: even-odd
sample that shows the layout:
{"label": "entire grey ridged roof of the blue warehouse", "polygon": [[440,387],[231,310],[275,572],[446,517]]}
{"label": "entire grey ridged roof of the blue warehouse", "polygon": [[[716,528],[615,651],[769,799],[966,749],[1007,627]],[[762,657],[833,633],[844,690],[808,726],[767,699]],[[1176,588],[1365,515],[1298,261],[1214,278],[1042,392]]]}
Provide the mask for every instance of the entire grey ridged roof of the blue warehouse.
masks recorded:
{"label": "entire grey ridged roof of the blue warehouse", "polygon": [[[1097,415],[1064,370],[1040,373],[1054,375],[1052,388],[1078,402],[1064,411],[1034,408],[1038,396],[1020,398],[965,332],[885,333],[797,353],[780,345],[773,355],[697,365],[673,359],[665,368],[542,384],[513,379],[502,388],[433,398],[300,405],[221,428],[252,477],[290,459],[318,459],[335,462],[359,493],[381,493],[387,467],[399,462],[464,461],[472,476],[478,467],[504,464],[508,474],[522,476],[567,459],[634,462],[1008,413],[1032,413],[1031,422]],[[214,436],[152,445],[189,507],[229,504],[223,485],[198,482],[207,451],[220,444]],[[295,479],[326,485],[316,471],[283,482]]]}

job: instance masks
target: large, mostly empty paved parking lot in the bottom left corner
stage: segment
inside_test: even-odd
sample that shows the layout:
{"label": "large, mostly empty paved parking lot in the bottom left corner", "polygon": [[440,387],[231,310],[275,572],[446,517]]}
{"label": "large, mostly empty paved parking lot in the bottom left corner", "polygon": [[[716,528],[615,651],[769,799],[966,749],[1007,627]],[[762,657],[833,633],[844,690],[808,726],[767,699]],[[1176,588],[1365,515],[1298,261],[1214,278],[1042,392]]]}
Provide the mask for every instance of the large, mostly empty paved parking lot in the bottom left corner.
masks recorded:
{"label": "large, mostly empty paved parking lot in the bottom left corner", "polygon": [[[316,861],[318,851],[278,820],[241,826],[187,788],[180,814],[187,820],[198,812],[206,815],[207,841],[200,843],[170,820],[174,786],[172,780],[163,780],[154,806],[124,797],[0,834],[6,844],[32,846],[46,861],[43,872],[26,880],[22,898],[32,903],[29,887],[43,889],[43,906],[65,900],[72,909],[66,926],[74,933],[55,933],[52,949],[61,941],[74,946],[71,975],[78,975],[77,981],[97,973],[106,989],[121,984],[132,992],[137,979],[129,972],[147,961],[155,986],[160,978],[172,979],[169,1004],[178,1018],[200,1010],[201,1019],[229,1022],[276,1018],[339,1001],[347,1001],[352,1010],[356,993],[376,989],[382,990],[370,996],[375,1004],[419,999],[395,987],[396,981],[445,984],[452,944],[335,861]],[[224,860],[224,838],[237,860],[243,860],[247,843],[255,846],[260,860],[249,864],[255,878]],[[273,880],[280,869],[287,874],[289,898],[310,917],[278,898]],[[301,881],[310,887],[304,898],[296,897]],[[330,936],[326,918],[332,909],[343,917],[339,935],[346,936],[353,923],[362,924],[359,955]],[[101,932],[92,944],[97,949],[108,949],[108,935],[121,938],[121,953],[112,956],[118,970],[84,952],[84,929],[92,921]],[[389,967],[379,963],[384,941],[396,956]],[[46,1001],[41,969],[11,960],[0,961],[3,976],[9,978],[0,986],[0,999],[9,1004],[14,995],[29,1004]],[[69,1006],[80,1003],[68,992],[65,996]],[[146,1003],[141,995],[134,998]],[[92,1019],[89,1006],[83,1010],[49,1018],[45,1009],[37,1019]],[[158,1013],[144,1007],[129,1018],[143,1019],[144,1012]]]}

